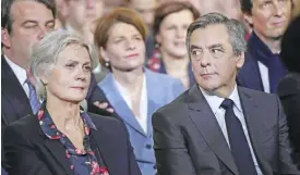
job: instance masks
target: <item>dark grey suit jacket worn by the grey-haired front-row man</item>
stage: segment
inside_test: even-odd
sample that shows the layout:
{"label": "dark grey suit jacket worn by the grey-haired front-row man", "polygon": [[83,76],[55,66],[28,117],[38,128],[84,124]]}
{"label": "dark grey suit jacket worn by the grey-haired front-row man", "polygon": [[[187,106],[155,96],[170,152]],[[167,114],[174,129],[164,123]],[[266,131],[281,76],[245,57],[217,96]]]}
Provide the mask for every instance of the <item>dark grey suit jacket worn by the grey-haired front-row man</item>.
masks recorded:
{"label": "dark grey suit jacket worn by the grey-haired front-row man", "polygon": [[[291,155],[280,101],[238,88],[259,165],[265,175],[300,174]],[[197,86],[153,115],[159,175],[238,175],[224,134]]]}

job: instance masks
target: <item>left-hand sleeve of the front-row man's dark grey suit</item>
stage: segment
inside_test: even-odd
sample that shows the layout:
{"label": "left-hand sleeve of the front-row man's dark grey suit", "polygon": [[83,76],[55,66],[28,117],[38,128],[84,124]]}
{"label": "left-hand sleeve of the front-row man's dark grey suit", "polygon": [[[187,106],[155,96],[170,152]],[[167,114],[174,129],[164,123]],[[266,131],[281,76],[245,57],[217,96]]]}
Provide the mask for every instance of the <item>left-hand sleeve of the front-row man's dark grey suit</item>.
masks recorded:
{"label": "left-hand sleeve of the front-row man's dark grey suit", "polygon": [[173,122],[159,112],[153,114],[157,175],[195,175],[184,136]]}

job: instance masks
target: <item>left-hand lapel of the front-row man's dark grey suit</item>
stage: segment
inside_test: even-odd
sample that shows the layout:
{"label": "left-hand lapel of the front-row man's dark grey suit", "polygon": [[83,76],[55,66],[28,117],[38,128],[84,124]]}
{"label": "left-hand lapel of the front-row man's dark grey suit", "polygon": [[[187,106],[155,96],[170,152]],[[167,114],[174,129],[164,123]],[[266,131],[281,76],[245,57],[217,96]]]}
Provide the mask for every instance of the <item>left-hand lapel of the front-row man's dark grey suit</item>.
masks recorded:
{"label": "left-hand lapel of the front-row man's dark grey suit", "polygon": [[196,85],[189,91],[188,105],[190,109],[190,117],[196,125],[207,145],[233,174],[238,174],[231,151],[226,142],[217,120]]}

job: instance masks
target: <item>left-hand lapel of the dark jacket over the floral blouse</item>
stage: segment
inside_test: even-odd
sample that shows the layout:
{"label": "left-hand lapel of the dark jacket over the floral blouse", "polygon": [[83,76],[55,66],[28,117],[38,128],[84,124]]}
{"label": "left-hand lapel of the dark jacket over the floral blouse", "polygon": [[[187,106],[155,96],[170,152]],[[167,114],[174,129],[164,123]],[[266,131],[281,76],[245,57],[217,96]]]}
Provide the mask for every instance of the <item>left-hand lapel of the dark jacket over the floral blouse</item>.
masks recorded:
{"label": "left-hand lapel of the dark jacket over the floral blouse", "polygon": [[[45,136],[44,136],[45,137]],[[68,175],[74,174],[71,171],[70,160],[65,155],[65,148],[59,140],[51,140],[46,138],[45,146],[48,151],[53,155],[53,158],[59,162]]]}

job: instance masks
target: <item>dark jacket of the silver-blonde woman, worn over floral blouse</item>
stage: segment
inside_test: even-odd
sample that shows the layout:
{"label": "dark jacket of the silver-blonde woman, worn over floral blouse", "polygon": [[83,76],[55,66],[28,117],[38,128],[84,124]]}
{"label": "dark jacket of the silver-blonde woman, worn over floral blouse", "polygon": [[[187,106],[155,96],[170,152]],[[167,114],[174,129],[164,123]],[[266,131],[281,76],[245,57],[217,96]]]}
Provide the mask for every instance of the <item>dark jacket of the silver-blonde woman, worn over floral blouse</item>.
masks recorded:
{"label": "dark jacket of the silver-blonde woman, worn over floral blouse", "polygon": [[[91,114],[92,148],[98,150],[111,175],[141,175],[124,125],[117,118]],[[3,134],[9,174],[72,175],[70,160],[59,140],[43,133],[37,116],[27,115],[9,125]]]}

